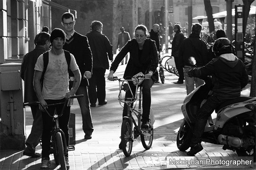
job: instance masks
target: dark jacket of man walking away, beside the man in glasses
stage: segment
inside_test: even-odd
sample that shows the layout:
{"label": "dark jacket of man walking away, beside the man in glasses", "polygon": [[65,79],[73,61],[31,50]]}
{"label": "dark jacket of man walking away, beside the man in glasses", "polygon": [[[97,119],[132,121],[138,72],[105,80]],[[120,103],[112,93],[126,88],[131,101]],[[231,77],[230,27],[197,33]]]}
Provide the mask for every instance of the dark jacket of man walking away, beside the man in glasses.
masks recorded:
{"label": "dark jacket of man walking away, beside the man in glasses", "polygon": [[109,39],[98,31],[91,31],[86,37],[92,50],[93,68],[109,69],[109,60],[113,60],[113,46]]}

